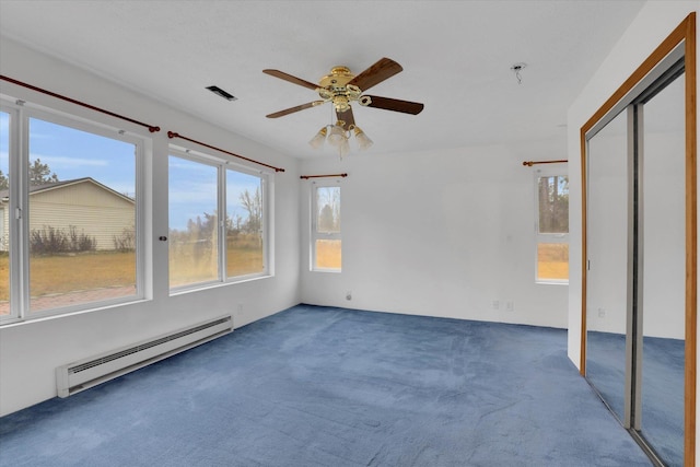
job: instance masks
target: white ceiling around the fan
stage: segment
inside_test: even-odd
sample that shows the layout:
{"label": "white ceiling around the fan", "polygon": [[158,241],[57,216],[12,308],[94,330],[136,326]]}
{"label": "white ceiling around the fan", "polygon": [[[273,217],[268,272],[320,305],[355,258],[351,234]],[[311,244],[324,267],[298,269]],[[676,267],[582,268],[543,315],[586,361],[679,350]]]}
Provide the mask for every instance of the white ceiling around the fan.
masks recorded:
{"label": "white ceiling around the fan", "polygon": [[[375,153],[564,138],[569,105],[643,3],[0,0],[0,32],[310,157],[324,153],[307,141],[330,124],[330,104],[266,118],[317,95],[262,69],[317,82],[337,65],[359,73],[382,57],[399,62],[404,71],[371,94],[425,108],[412,116],[354,106]],[[527,63],[522,84],[516,62]],[[205,90],[211,84],[238,100]]]}

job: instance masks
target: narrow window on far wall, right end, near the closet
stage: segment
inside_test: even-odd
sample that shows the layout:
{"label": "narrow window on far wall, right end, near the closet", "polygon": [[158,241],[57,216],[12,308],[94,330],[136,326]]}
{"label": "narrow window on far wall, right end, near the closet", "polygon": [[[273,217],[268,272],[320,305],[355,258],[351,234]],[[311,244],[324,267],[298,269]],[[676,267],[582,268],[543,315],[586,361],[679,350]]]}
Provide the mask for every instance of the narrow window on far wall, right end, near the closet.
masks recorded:
{"label": "narrow window on far wall, right end, near the closet", "polygon": [[537,175],[537,282],[569,282],[569,177]]}

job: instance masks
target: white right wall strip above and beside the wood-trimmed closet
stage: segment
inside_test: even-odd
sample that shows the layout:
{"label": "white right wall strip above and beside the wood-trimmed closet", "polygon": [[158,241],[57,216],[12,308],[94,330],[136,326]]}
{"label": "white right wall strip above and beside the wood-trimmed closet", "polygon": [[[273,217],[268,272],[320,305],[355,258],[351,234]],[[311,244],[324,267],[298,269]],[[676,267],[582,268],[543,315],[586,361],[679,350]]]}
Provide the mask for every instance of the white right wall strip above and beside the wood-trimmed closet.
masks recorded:
{"label": "white right wall strip above and beside the wood-trimmed closet", "polygon": [[[569,109],[570,285],[569,357],[581,359],[581,149],[580,129],[700,1],[649,1]],[[700,386],[698,386],[700,388]],[[700,407],[699,407],[700,409]],[[696,457],[700,442],[696,439]]]}

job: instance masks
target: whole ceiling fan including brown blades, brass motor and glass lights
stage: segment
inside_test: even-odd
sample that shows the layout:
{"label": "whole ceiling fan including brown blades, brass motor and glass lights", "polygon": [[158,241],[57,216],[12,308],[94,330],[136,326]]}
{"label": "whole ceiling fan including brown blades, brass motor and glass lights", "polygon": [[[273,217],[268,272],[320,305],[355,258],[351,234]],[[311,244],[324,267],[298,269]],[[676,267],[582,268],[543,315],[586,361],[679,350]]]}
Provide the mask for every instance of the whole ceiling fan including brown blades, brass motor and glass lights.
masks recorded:
{"label": "whole ceiling fan including brown blades, brass motor and glass lights", "polygon": [[284,81],[314,90],[322,101],[313,101],[306,104],[287,108],[267,115],[268,118],[278,118],[325,103],[331,103],[336,112],[335,125],[324,126],[308,143],[314,149],[323,147],[324,141],[338,149],[340,157],[350,152],[348,140],[354,133],[360,150],[369,149],[372,140],[354,124],[352,103],[363,107],[374,107],[384,110],[400,112],[402,114],[418,115],[423,109],[423,104],[409,101],[399,101],[389,97],[371,96],[364,91],[381,83],[402,70],[401,66],[390,58],[382,58],[376,63],[361,72],[353,74],[348,67],[334,67],[330,73],[323,77],[318,84],[302,80],[279,70],[266,69],[264,73]]}

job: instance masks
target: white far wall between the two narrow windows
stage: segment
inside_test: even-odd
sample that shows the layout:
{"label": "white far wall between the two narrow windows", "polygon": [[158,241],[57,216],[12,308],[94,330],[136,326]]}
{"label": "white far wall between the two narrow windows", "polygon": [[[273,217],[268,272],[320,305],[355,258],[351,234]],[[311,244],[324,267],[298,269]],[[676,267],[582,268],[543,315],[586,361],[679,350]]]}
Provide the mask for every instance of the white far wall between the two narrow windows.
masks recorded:
{"label": "white far wall between the two narrow windows", "polygon": [[308,270],[311,182],[304,183],[302,301],[565,327],[567,285],[535,283],[535,168],[522,165],[565,159],[564,152],[562,135],[546,143],[408,154],[372,149],[342,161],[329,152],[304,161],[305,175],[349,176],[341,182],[340,273]]}

